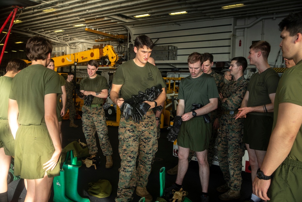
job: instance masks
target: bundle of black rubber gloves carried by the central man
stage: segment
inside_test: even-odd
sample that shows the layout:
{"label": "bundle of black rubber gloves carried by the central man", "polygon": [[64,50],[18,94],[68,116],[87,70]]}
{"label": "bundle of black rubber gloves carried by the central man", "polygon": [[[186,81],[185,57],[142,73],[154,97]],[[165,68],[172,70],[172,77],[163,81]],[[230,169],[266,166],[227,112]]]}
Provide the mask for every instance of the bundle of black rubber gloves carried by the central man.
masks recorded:
{"label": "bundle of black rubber gloves carried by the central man", "polygon": [[[162,92],[162,85],[153,86],[147,88],[145,92],[139,91],[137,95],[133,95],[132,98],[124,100],[124,103],[120,107],[125,119],[132,117],[136,123],[143,121],[143,116],[146,115],[150,109],[150,105],[144,101],[154,101],[158,95]],[[161,111],[162,106],[157,106],[156,110]]]}

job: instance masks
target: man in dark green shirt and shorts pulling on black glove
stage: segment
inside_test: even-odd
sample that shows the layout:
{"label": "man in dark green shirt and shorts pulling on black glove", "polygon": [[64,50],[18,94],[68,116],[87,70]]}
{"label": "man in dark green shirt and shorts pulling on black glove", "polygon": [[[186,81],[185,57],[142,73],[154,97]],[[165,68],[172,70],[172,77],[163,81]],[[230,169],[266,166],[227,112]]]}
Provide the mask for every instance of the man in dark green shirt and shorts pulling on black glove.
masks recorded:
{"label": "man in dark green shirt and shorts pulling on black glove", "polygon": [[[166,200],[170,199],[172,190],[179,191],[182,188],[182,182],[188,169],[189,151],[193,150],[196,152],[199,164],[201,201],[209,201],[207,190],[210,169],[207,162],[207,149],[212,126],[211,123],[206,123],[203,115],[210,114],[217,108],[219,94],[215,79],[202,72],[203,62],[204,59],[200,53],[194,52],[189,55],[188,66],[191,75],[183,78],[179,84],[177,116],[174,118],[177,123],[173,124],[167,136],[170,141],[177,137],[178,174],[175,184],[165,190]],[[191,110],[192,104],[195,104],[193,107],[198,109]],[[179,132],[177,127],[179,127]]]}

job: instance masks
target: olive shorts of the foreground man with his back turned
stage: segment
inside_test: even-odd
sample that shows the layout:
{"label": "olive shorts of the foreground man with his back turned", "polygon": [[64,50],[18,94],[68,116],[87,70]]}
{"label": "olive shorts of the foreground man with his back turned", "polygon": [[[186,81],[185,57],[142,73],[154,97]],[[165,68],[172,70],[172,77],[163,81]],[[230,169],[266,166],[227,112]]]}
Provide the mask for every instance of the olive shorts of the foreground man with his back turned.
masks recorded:
{"label": "olive shorts of the foreground man with his back turned", "polygon": [[[24,179],[40,179],[45,175],[43,164],[55,151],[53,142],[44,125],[20,125],[16,133],[14,174]],[[60,174],[60,160],[56,167],[47,171],[48,177]]]}

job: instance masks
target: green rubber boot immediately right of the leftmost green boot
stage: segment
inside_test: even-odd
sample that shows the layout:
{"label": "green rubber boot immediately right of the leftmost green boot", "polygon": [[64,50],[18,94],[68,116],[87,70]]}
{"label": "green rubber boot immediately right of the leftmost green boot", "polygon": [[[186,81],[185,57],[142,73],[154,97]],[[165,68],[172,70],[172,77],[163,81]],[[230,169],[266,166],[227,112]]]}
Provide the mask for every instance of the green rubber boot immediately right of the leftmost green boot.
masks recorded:
{"label": "green rubber boot immediately right of the leftmost green boot", "polygon": [[83,198],[78,194],[79,167],[64,164],[63,170],[65,171],[66,196],[73,201],[90,202],[88,198]]}

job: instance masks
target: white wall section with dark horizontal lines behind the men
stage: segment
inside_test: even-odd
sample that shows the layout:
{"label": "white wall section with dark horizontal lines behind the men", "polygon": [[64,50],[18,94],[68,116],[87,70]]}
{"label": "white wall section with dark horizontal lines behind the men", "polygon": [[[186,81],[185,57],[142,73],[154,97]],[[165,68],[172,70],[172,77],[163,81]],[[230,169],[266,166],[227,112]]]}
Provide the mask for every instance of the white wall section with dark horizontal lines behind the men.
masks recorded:
{"label": "white wall section with dark horizontal lines behind the men", "polygon": [[233,19],[190,22],[154,28],[134,29],[133,39],[140,34],[152,38],[155,45],[173,45],[178,48],[178,61],[186,61],[192,52],[209,52],[214,61],[230,57]]}

